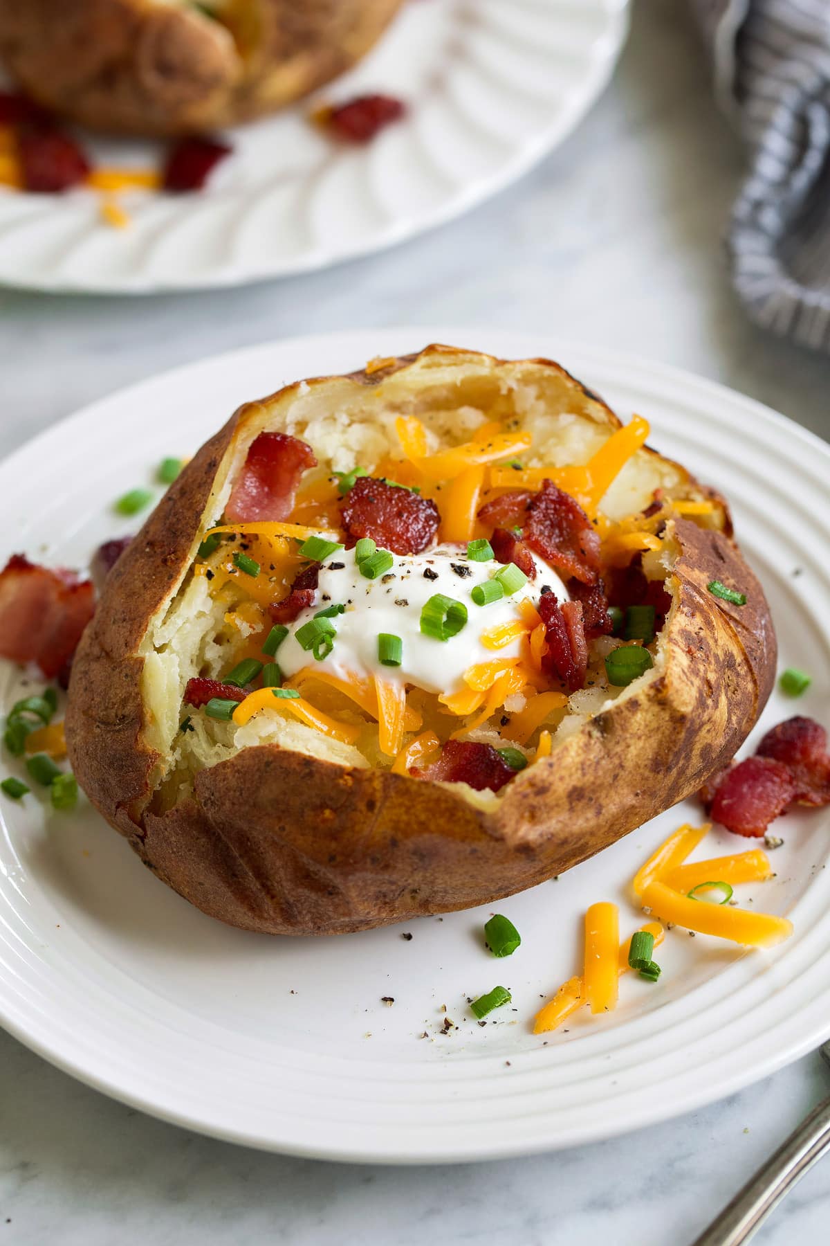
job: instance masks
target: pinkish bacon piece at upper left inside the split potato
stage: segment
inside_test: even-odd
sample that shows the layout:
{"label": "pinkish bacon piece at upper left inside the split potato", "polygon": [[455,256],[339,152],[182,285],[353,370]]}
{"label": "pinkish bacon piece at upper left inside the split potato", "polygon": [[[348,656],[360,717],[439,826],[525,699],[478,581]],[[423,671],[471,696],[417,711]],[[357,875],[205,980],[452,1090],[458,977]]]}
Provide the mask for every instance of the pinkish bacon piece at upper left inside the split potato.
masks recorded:
{"label": "pinkish bacon piece at upper left inside the split potato", "polygon": [[307,467],[316,467],[311,446],[287,432],[260,432],[225,507],[231,523],[285,520]]}

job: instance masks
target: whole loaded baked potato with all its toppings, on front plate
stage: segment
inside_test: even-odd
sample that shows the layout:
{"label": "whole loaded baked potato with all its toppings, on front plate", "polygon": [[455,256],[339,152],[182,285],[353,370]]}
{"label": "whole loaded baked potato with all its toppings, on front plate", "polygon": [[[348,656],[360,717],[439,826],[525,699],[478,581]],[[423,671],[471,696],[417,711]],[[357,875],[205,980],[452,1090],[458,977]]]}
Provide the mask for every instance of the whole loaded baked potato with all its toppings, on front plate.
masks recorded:
{"label": "whole loaded baked potato with all its toppings, on front plate", "polygon": [[531,887],[696,791],[775,637],[725,502],[647,431],[441,345],[245,404],[81,640],[91,801],[204,912],[324,934]]}

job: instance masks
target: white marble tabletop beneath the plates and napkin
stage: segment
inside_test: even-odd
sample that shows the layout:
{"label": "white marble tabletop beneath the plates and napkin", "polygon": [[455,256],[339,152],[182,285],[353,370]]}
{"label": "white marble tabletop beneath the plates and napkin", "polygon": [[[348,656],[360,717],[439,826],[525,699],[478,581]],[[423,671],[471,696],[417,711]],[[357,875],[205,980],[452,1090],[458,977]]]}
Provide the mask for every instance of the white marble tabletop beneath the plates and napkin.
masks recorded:
{"label": "white marble tabletop beneath the plates and napkin", "polygon": [[[0,294],[0,452],[77,406],[234,345],[347,326],[550,328],[679,364],[830,435],[830,361],[769,339],[729,290],[740,152],[679,0],[638,0],[606,97],[520,186],[373,259],[162,299]],[[261,1155],[122,1108],[0,1034],[0,1246],[684,1246],[830,1090],[818,1055],[672,1124],[505,1164],[381,1169]],[[436,1121],[441,1129],[441,1121]],[[826,1242],[830,1163],[759,1234]]]}

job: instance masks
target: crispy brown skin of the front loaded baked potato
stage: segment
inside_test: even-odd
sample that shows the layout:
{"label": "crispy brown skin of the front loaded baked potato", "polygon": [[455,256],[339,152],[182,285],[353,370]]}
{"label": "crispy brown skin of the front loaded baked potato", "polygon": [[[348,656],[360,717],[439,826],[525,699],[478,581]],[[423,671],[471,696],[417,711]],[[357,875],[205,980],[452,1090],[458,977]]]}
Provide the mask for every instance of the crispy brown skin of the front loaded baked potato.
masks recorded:
{"label": "crispy brown skin of the front loaded baked potato", "polygon": [[[352,379],[378,384],[413,358]],[[187,568],[217,467],[249,410],[192,460],[111,572],[75,659],[66,716],[92,802],[204,912],[273,934],[335,934],[490,902],[564,872],[696,791],[755,723],[776,658],[763,589],[727,535],[677,520],[664,672],[521,771],[493,812],[462,789],[276,745],[200,771],[194,796],[172,810],[144,807],[157,759],[142,738],[137,649]],[[747,604],[713,597],[711,579],[740,584]]]}

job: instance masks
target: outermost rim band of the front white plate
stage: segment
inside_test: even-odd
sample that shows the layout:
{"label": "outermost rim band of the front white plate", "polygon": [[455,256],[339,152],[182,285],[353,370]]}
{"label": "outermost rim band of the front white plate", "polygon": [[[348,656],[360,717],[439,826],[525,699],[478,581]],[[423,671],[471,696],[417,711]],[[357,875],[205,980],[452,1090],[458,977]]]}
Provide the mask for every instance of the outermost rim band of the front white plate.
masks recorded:
{"label": "outermost rim band of the front white plate", "polygon": [[[445,326],[436,328],[412,325],[382,329],[350,329],[345,333],[335,331],[325,334],[306,334],[295,338],[281,338],[253,346],[238,348],[220,355],[208,356],[207,359],[192,361],[179,368],[167,369],[152,376],[144,378],[133,385],[121,388],[91,404],[87,404],[77,412],[66,416],[63,420],[56,421],[49,429],[37,434],[34,439],[25,442],[2,462],[0,462],[0,477],[10,470],[14,471],[19,465],[24,464],[30,455],[36,456],[44,444],[49,442],[55,434],[58,432],[58,430],[61,435],[75,435],[86,422],[95,421],[98,417],[98,410],[101,407],[106,407],[113,402],[117,404],[126,397],[141,397],[142,390],[152,390],[154,386],[164,388],[168,384],[177,384],[183,380],[187,381],[189,375],[204,371],[205,366],[218,368],[219,370],[224,370],[226,368],[230,369],[239,364],[244,365],[245,360],[254,355],[268,356],[270,351],[292,351],[297,348],[302,350],[314,350],[329,346],[332,351],[338,349],[353,349],[356,354],[360,351],[360,355],[362,356],[366,354],[366,344],[370,344],[370,349],[373,349],[371,345],[372,341],[375,339],[383,339],[383,349],[391,349],[391,346],[388,346],[388,340],[393,338],[399,338],[402,341],[411,341],[412,339],[423,340],[429,338],[429,340],[433,341],[443,340],[450,343],[464,340],[473,341],[477,338],[487,341],[487,339],[497,338],[500,343],[503,343],[503,346],[500,348],[500,354],[503,355],[513,355],[514,353],[516,355],[521,355],[523,353],[529,355],[533,350],[535,350],[536,343],[546,340],[550,348],[553,348],[551,355],[566,359],[569,363],[576,361],[577,371],[585,369],[586,366],[592,366],[594,364],[596,364],[597,369],[626,369],[631,373],[635,385],[641,380],[645,383],[647,379],[655,378],[657,381],[671,384],[673,388],[682,388],[684,385],[688,386],[692,401],[694,401],[696,394],[702,394],[707,396],[712,404],[718,400],[728,400],[732,405],[738,404],[748,412],[760,415],[763,420],[772,422],[780,431],[785,431],[788,436],[796,436],[803,444],[813,447],[830,464],[830,445],[816,434],[801,427],[788,416],[768,407],[757,399],[742,395],[718,381],[698,376],[694,373],[678,369],[671,364],[642,359],[627,351],[609,350],[604,346],[590,345],[584,341],[580,343],[562,339],[556,335],[548,335],[544,330],[539,333],[521,333],[514,330],[501,330],[498,328],[484,329],[480,326],[478,329],[459,326],[448,329]],[[358,343],[361,341],[363,343],[362,348],[358,346]],[[525,345],[523,346],[521,343]],[[398,343],[398,346],[401,344],[402,343]],[[755,1058],[754,1062],[748,1064],[745,1068],[738,1069],[732,1074],[724,1072],[716,1078],[714,1084],[704,1087],[702,1090],[696,1090],[694,1093],[687,1091],[681,1095],[679,1100],[677,1098],[671,1099],[671,1104],[668,1106],[664,1106],[662,1101],[655,1101],[651,1105],[642,1106],[641,1110],[637,1111],[636,1119],[633,1120],[627,1120],[622,1116],[622,1114],[617,1114],[602,1126],[589,1125],[581,1131],[579,1129],[570,1128],[564,1141],[559,1141],[556,1139],[554,1133],[555,1121],[551,1120],[549,1135],[540,1139],[533,1139],[531,1141],[525,1141],[518,1136],[511,1139],[508,1144],[499,1143],[497,1145],[490,1145],[485,1139],[483,1139],[483,1143],[485,1143],[484,1145],[478,1145],[468,1150],[452,1148],[447,1151],[442,1150],[442,1145],[439,1143],[432,1144],[428,1154],[412,1154],[406,1149],[406,1140],[403,1140],[403,1145],[399,1150],[389,1150],[387,1146],[385,1146],[383,1150],[373,1150],[371,1145],[366,1144],[366,1141],[358,1145],[337,1146],[319,1144],[306,1145],[304,1143],[289,1144],[248,1133],[234,1125],[224,1125],[219,1128],[207,1119],[197,1119],[194,1115],[188,1115],[175,1108],[166,1108],[161,1103],[149,1101],[134,1090],[118,1085],[117,1082],[113,1080],[113,1077],[97,1074],[95,1069],[88,1068],[85,1064],[81,1053],[76,1053],[75,1058],[62,1053],[60,1050],[60,1039],[50,1047],[49,1043],[44,1042],[37,1034],[26,1032],[25,1025],[22,1023],[17,1023],[14,1014],[15,1008],[12,1002],[0,999],[0,1024],[24,1045],[29,1047],[41,1058],[46,1059],[62,1072],[68,1073],[71,1077],[75,1077],[77,1080],[91,1087],[92,1089],[107,1094],[110,1098],[137,1108],[169,1124],[265,1151],[276,1151],[280,1154],[345,1163],[387,1165],[426,1165],[433,1163],[469,1163],[508,1159],[557,1150],[562,1146],[584,1145],[589,1141],[600,1141],[606,1138],[618,1136],[633,1129],[647,1128],[648,1125],[658,1121],[673,1119],[686,1111],[696,1110],[697,1108],[713,1103],[728,1094],[744,1089],[747,1085],[768,1077],[776,1069],[783,1068],[785,1064],[791,1063],[794,1059],[798,1059],[813,1050],[816,1045],[819,1045],[819,1043],[830,1035],[830,1017],[828,1017],[828,1019],[823,1023],[816,1023],[813,1027],[805,1028],[805,1030],[796,1038],[790,1038],[789,1042],[786,1042],[786,1044],[781,1044],[778,1050]],[[370,1134],[370,1126],[363,1125],[362,1129],[366,1135]]]}

